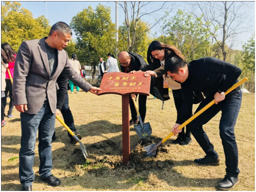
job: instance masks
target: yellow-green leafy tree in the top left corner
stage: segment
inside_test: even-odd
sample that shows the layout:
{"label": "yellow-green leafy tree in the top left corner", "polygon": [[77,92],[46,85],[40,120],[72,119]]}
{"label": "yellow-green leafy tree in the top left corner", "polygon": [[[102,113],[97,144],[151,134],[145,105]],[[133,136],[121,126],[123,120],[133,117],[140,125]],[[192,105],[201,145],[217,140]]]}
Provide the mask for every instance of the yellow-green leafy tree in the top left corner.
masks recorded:
{"label": "yellow-green leafy tree in the top left corner", "polygon": [[20,7],[18,2],[4,2],[2,5],[2,43],[8,42],[16,52],[22,41],[40,39],[50,32],[48,19],[44,16],[34,19],[29,10]]}

